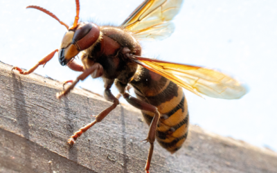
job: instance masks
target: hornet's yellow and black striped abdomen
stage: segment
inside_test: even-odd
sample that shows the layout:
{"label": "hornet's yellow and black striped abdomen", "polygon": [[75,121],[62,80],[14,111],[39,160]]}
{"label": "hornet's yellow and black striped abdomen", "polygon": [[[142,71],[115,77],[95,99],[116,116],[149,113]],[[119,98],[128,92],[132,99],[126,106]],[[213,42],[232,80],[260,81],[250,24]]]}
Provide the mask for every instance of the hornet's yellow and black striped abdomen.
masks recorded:
{"label": "hornet's yellow and black striped abdomen", "polygon": [[[131,82],[137,98],[158,108],[161,115],[156,139],[169,152],[176,152],[188,136],[188,104],[180,86],[141,67]],[[142,111],[150,125],[154,113]]]}

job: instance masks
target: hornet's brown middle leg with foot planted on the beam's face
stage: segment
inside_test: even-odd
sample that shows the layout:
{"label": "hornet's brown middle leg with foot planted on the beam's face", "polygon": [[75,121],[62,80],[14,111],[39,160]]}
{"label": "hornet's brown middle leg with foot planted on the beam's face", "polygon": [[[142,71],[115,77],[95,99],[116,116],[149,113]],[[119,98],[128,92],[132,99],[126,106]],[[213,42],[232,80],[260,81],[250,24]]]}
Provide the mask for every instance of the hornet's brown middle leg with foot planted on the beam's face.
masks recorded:
{"label": "hornet's brown middle leg with foot planted on the beam's face", "polygon": [[104,96],[105,96],[106,100],[108,100],[110,102],[114,102],[114,104],[111,104],[110,107],[108,107],[107,109],[105,109],[104,111],[99,113],[98,116],[96,116],[96,120],[89,123],[89,125],[86,125],[86,126],[82,127],[79,131],[76,131],[74,133],[74,135],[69,138],[67,143],[73,145],[75,143],[75,141],[77,140],[77,138],[80,137],[82,133],[87,131],[89,128],[91,128],[93,125],[95,125],[97,122],[101,122],[102,119],[104,119],[112,110],[114,110],[116,108],[116,106],[119,104],[119,102],[118,102],[118,99],[116,97],[114,97],[114,95],[111,93],[111,90],[110,90],[111,85],[113,83],[114,83],[114,80],[105,80]]}

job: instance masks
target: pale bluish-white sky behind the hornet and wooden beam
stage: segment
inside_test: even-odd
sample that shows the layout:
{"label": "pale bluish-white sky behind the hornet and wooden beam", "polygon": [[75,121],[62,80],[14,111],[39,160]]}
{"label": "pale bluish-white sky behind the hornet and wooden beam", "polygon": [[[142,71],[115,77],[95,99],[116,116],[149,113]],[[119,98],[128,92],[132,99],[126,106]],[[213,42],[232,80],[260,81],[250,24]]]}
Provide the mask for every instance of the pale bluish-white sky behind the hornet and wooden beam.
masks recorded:
{"label": "pale bluish-white sky behind the hornet and wooden beam", "polygon": [[[141,1],[80,0],[80,18],[120,24]],[[0,1],[0,61],[24,69],[59,48],[66,32],[43,12],[26,10],[28,5],[42,6],[66,24],[75,17],[74,0]],[[187,0],[170,38],[142,43],[147,57],[220,69],[249,86],[249,93],[240,100],[204,100],[185,91],[192,124],[277,151],[276,9],[276,0]],[[35,73],[61,81],[79,74],[60,66],[57,55]],[[89,78],[80,86],[103,91],[101,80]],[[118,93],[115,88],[112,91]]]}

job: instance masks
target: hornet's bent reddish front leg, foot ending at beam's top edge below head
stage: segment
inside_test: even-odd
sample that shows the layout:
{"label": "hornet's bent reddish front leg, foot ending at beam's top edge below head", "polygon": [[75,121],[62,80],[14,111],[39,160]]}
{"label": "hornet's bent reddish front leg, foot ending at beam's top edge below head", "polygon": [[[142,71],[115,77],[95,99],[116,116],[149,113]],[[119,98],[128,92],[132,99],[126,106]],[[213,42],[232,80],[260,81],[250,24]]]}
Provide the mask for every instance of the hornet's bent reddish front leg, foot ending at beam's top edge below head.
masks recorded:
{"label": "hornet's bent reddish front leg, foot ending at beam's top edge below head", "polygon": [[58,99],[64,97],[66,94],[68,94],[74,88],[74,86],[80,80],[86,79],[91,74],[92,74],[92,78],[98,78],[102,75],[102,72],[103,72],[103,67],[100,64],[98,64],[98,63],[93,64],[93,66],[91,66],[89,69],[84,70],[84,72],[81,75],[79,75],[78,78],[75,79],[66,90],[62,91],[62,93],[57,93],[56,97]]}

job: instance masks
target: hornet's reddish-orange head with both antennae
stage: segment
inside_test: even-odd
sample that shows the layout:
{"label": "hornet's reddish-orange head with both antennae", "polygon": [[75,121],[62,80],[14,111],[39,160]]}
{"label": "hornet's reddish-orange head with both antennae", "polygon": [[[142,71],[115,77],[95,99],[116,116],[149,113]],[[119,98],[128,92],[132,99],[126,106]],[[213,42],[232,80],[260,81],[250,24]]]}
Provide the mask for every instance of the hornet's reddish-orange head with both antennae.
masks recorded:
{"label": "hornet's reddish-orange head with both antennae", "polygon": [[90,46],[92,46],[100,37],[100,29],[96,24],[91,23],[78,23],[79,12],[80,12],[80,3],[79,0],[76,2],[76,16],[73,23],[73,26],[69,28],[64,22],[60,21],[52,12],[41,8],[39,6],[28,6],[27,8],[35,8],[42,12],[45,12],[47,15],[50,15],[54,19],[60,22],[68,30],[64,38],[62,39],[62,44],[59,50],[59,62],[62,66],[66,65],[73,57],[78,55],[80,51],[83,51]]}

